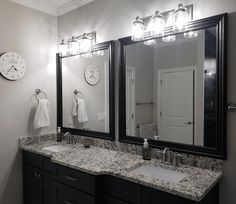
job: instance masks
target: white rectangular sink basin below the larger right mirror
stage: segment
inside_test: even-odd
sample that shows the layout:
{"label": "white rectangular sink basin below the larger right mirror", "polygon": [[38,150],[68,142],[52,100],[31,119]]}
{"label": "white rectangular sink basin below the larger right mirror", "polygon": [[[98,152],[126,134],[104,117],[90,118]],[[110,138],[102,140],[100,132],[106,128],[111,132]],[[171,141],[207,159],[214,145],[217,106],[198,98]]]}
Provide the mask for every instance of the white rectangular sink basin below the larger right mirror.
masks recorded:
{"label": "white rectangular sink basin below the larger right mirror", "polygon": [[187,176],[187,174],[176,170],[147,164],[139,166],[129,172],[173,183],[178,183]]}

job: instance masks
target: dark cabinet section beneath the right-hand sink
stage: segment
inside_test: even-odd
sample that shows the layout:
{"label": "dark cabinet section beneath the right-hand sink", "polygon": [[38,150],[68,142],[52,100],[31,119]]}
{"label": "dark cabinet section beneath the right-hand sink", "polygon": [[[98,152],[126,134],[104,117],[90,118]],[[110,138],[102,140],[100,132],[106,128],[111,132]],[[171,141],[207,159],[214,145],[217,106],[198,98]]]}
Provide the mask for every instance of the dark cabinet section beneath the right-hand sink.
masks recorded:
{"label": "dark cabinet section beneath the right-hand sink", "polygon": [[103,178],[104,204],[218,204],[218,184],[197,202],[112,176]]}

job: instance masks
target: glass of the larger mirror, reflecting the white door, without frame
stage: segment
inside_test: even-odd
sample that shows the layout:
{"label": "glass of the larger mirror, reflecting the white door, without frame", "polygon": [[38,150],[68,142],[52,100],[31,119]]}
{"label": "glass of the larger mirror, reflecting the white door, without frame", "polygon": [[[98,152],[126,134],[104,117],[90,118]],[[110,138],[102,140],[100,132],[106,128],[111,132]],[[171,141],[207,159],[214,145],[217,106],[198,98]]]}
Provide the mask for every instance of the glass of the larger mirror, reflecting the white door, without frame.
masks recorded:
{"label": "glass of the larger mirror, reflecting the white door, without frame", "polygon": [[127,136],[216,148],[216,33],[125,46]]}

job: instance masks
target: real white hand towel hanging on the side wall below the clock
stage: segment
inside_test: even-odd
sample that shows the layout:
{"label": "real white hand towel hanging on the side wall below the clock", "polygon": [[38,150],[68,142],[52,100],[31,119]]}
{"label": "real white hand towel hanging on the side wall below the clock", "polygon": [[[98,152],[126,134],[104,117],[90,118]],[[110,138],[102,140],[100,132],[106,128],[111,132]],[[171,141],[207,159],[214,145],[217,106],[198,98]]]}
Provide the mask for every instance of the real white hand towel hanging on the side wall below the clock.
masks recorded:
{"label": "real white hand towel hanging on the side wall below the clock", "polygon": [[47,99],[40,99],[34,116],[34,128],[50,126],[50,103]]}

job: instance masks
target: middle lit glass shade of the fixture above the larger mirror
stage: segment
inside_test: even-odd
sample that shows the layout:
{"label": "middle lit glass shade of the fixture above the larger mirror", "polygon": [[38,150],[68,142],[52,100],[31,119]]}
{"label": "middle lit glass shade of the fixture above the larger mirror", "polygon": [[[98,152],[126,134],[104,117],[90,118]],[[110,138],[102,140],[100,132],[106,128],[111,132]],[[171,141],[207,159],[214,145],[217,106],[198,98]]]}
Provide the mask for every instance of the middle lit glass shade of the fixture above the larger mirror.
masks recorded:
{"label": "middle lit glass shade of the fixture above the larger mirror", "polygon": [[156,11],[155,15],[152,17],[153,21],[153,37],[160,37],[164,34],[165,19],[164,16]]}

